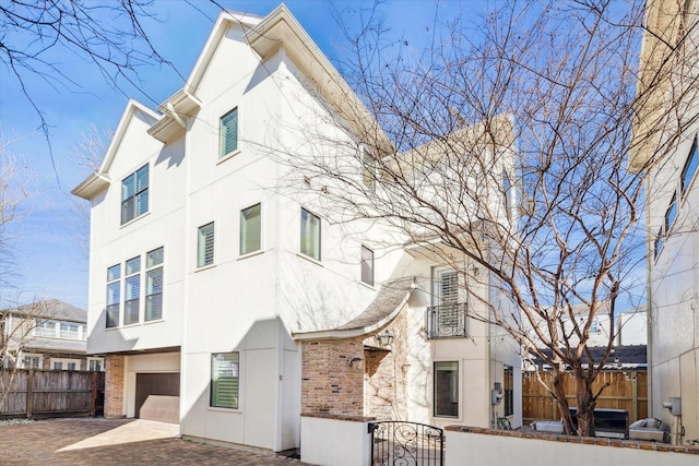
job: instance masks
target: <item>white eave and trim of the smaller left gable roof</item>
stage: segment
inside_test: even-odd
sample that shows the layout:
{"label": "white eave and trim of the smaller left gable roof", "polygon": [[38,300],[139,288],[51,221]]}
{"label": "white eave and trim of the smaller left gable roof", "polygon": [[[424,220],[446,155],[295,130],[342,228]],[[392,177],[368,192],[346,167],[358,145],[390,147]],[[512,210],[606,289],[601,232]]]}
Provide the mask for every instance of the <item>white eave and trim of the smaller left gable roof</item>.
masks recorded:
{"label": "white eave and trim of the smaller left gable roof", "polygon": [[102,162],[99,170],[97,172],[91,174],[80,184],[73,188],[70,192],[71,194],[91,200],[109,186],[109,183],[111,182],[111,178],[109,178],[108,175],[109,167],[114,162],[114,157],[117,154],[117,150],[121,144],[121,140],[127,132],[127,128],[129,128],[129,122],[137,117],[137,113],[143,115],[146,122],[151,124],[154,124],[161,117],[159,113],[151,110],[145,105],[137,100],[129,99],[123,113],[121,113],[119,126],[114,133],[111,142],[109,143],[109,147],[107,148],[107,153],[105,154],[105,158]]}

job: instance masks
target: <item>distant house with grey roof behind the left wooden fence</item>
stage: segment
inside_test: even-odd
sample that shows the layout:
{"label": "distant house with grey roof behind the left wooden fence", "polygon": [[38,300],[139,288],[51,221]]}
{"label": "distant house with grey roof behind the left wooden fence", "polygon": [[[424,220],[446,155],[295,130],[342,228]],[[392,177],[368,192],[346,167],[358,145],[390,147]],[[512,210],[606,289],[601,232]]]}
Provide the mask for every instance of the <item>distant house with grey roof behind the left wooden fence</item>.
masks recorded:
{"label": "distant house with grey roof behind the left wooden fence", "polygon": [[85,354],[87,312],[52,299],[1,310],[2,366],[23,369],[104,370]]}

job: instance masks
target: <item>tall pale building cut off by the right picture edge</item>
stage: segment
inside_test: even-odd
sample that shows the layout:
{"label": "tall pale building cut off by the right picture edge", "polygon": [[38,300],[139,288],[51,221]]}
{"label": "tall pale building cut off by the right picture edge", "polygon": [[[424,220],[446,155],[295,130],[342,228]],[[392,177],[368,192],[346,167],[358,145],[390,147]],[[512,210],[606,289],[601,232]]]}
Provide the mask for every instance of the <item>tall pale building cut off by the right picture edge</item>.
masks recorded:
{"label": "tall pale building cut off by the right picture edge", "polygon": [[[640,59],[639,87],[664,79],[666,57],[694,52],[699,40],[699,2],[649,0],[647,33]],[[685,33],[688,35],[685,37]],[[696,100],[697,70],[680,61],[680,70],[651,96],[650,105],[637,109],[631,170],[644,170],[659,148],[667,151],[660,166],[647,174],[645,218],[648,232],[648,325],[650,415],[670,423],[680,414],[677,443],[699,441],[699,122]],[[667,67],[665,67],[667,68]],[[675,71],[682,71],[675,73]],[[686,73],[686,74],[683,74]],[[685,96],[662,134],[647,131],[662,121],[671,105],[668,96]],[[679,406],[673,398],[679,398]],[[666,409],[663,405],[672,404]],[[677,409],[679,408],[679,409]]]}

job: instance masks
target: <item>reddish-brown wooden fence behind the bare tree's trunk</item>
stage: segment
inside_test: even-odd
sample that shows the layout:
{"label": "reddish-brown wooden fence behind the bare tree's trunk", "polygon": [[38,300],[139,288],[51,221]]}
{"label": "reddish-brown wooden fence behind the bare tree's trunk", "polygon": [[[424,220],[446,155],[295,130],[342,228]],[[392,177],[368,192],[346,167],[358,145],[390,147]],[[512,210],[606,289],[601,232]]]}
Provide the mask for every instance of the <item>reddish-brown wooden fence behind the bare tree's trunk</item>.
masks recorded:
{"label": "reddish-brown wooden fence behind the bare tree's trunk", "polygon": [[[541,372],[542,380],[550,386],[552,373]],[[564,390],[566,398],[571,407],[576,403],[576,381],[572,377],[565,375]],[[593,393],[605,383],[609,386],[604,389],[597,398],[597,408],[627,409],[629,411],[629,422],[648,417],[648,378],[644,371],[607,371],[601,372],[593,385]],[[536,374],[526,373],[522,378],[522,418],[525,422],[533,420],[558,420],[558,405],[536,380]]]}

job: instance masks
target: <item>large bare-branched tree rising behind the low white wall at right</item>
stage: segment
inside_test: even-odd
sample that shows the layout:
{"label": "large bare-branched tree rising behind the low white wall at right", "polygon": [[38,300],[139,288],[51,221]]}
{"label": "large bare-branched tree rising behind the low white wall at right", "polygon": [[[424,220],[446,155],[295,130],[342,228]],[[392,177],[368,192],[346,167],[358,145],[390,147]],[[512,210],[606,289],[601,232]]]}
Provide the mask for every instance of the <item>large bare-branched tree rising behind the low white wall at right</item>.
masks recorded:
{"label": "large bare-branched tree rising behind the low white wall at right", "polygon": [[[347,98],[330,109],[356,138],[331,141],[320,127],[304,128],[333,156],[295,154],[293,163],[325,200],[328,217],[382,224],[464,283],[508,296],[502,307],[472,292],[489,315],[471,318],[500,326],[525,357],[552,367],[547,390],[568,433],[576,429],[561,380],[574,378],[577,433],[590,435],[603,390],[593,392],[593,382],[613,353],[615,312],[642,300],[629,279],[645,260],[645,174],[696,119],[678,103],[699,86],[691,76],[682,89],[677,83],[698,48],[659,48],[655,71],[637,86],[643,2],[494,8],[478,22],[430,31],[430,47],[418,52],[389,40],[377,22],[347,33],[353,55],[343,73],[364,105]],[[676,100],[659,107],[656,94],[667,88]],[[639,131],[633,117],[651,110]],[[629,170],[640,146],[648,157]],[[588,342],[602,314],[608,342],[595,359]]]}

